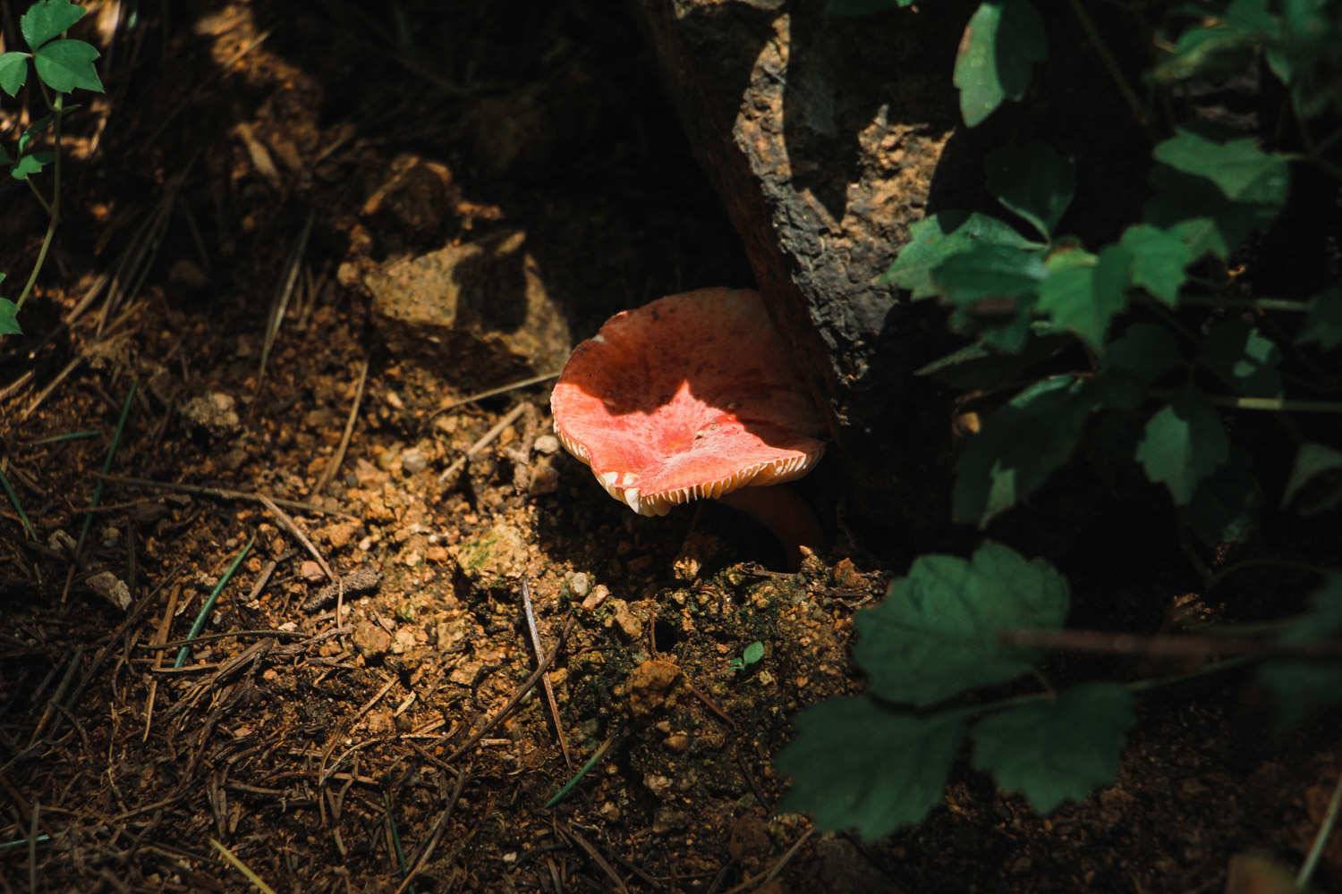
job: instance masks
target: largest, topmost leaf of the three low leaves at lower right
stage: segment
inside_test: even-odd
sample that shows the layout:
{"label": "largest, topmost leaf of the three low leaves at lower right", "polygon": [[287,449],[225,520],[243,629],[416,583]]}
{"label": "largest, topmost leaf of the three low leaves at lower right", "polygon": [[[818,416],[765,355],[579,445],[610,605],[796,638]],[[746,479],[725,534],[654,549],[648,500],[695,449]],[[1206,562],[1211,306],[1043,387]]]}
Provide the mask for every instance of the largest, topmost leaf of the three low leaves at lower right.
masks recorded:
{"label": "largest, topmost leaf of the three low leaves at lower right", "polygon": [[1040,653],[1004,646],[997,635],[1062,627],[1068,602],[1067,579],[1051,564],[998,543],[985,541],[968,562],[919,556],[884,602],[854,618],[854,659],[880,698],[934,705],[1029,673]]}

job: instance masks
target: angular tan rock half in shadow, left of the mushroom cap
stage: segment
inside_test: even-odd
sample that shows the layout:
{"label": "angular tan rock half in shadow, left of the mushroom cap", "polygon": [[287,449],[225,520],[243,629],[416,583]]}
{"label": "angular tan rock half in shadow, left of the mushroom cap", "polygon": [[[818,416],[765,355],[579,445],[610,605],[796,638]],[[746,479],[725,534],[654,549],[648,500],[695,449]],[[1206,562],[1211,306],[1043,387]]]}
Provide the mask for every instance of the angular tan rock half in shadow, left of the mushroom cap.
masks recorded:
{"label": "angular tan rock half in shadow, left of the mushroom cap", "polygon": [[572,340],[521,231],[392,260],[364,281],[399,358],[451,363],[458,382],[558,369]]}

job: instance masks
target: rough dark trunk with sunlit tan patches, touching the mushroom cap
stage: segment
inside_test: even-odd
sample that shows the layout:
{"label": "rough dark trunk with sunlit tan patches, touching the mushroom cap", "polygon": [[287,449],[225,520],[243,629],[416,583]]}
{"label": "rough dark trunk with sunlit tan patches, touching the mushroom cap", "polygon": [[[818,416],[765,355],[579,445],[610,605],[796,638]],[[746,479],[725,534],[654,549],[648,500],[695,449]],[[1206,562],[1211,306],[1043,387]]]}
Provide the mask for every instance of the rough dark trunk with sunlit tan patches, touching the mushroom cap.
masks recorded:
{"label": "rough dark trunk with sunlit tan patches, touching the mushroom cap", "polygon": [[875,19],[825,16],[824,0],[639,5],[694,151],[829,411],[849,497],[890,517],[898,491],[896,516],[943,516],[921,504],[945,500],[947,398],[911,373],[945,353],[945,327],[878,280],[934,180],[978,189],[945,151],[964,4]]}

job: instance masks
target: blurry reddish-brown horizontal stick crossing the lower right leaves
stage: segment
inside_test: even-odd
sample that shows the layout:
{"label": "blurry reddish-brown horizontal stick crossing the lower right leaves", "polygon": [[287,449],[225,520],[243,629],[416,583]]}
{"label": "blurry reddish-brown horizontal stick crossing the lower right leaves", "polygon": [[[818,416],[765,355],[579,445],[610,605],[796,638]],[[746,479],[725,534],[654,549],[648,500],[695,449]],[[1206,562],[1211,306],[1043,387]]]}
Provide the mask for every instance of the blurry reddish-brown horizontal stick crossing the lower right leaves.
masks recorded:
{"label": "blurry reddish-brown horizontal stick crossing the lower right leaves", "polygon": [[1206,657],[1251,655],[1255,658],[1335,658],[1342,642],[1270,642],[1229,637],[1139,637],[1103,630],[1005,630],[998,635],[1005,646],[1056,649],[1110,655]]}

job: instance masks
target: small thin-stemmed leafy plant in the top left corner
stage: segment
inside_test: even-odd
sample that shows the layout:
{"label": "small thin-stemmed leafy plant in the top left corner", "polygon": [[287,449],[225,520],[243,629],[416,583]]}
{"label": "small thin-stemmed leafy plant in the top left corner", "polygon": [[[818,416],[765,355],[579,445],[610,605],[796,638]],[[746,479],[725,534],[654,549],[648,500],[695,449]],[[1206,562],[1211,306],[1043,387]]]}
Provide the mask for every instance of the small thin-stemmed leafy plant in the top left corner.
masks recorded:
{"label": "small thin-stemmed leafy plant in the top left corner", "polygon": [[[64,115],[76,109],[66,105],[66,97],[75,90],[102,92],[102,80],[98,79],[98,71],[93,64],[98,59],[98,51],[83,40],[64,36],[85,12],[83,7],[70,0],[38,0],[19,19],[19,31],[28,46],[28,52],[12,50],[0,54],[0,90],[9,97],[17,97],[30,83],[31,62],[38,75],[35,80],[38,91],[48,109],[47,115],[19,134],[12,153],[0,146],[0,165],[8,168],[11,177],[28,184],[48,216],[47,233],[42,240],[38,260],[17,300],[0,298],[0,335],[17,335],[23,331],[17,320],[19,308],[32,295],[32,287],[38,281],[38,273],[42,272],[47,252],[51,249],[51,240],[60,224],[62,125]],[[42,139],[48,130],[50,146],[42,147]],[[52,169],[50,197],[32,181],[32,176],[42,173],[48,165]],[[4,275],[0,273],[0,281],[3,279]]]}

